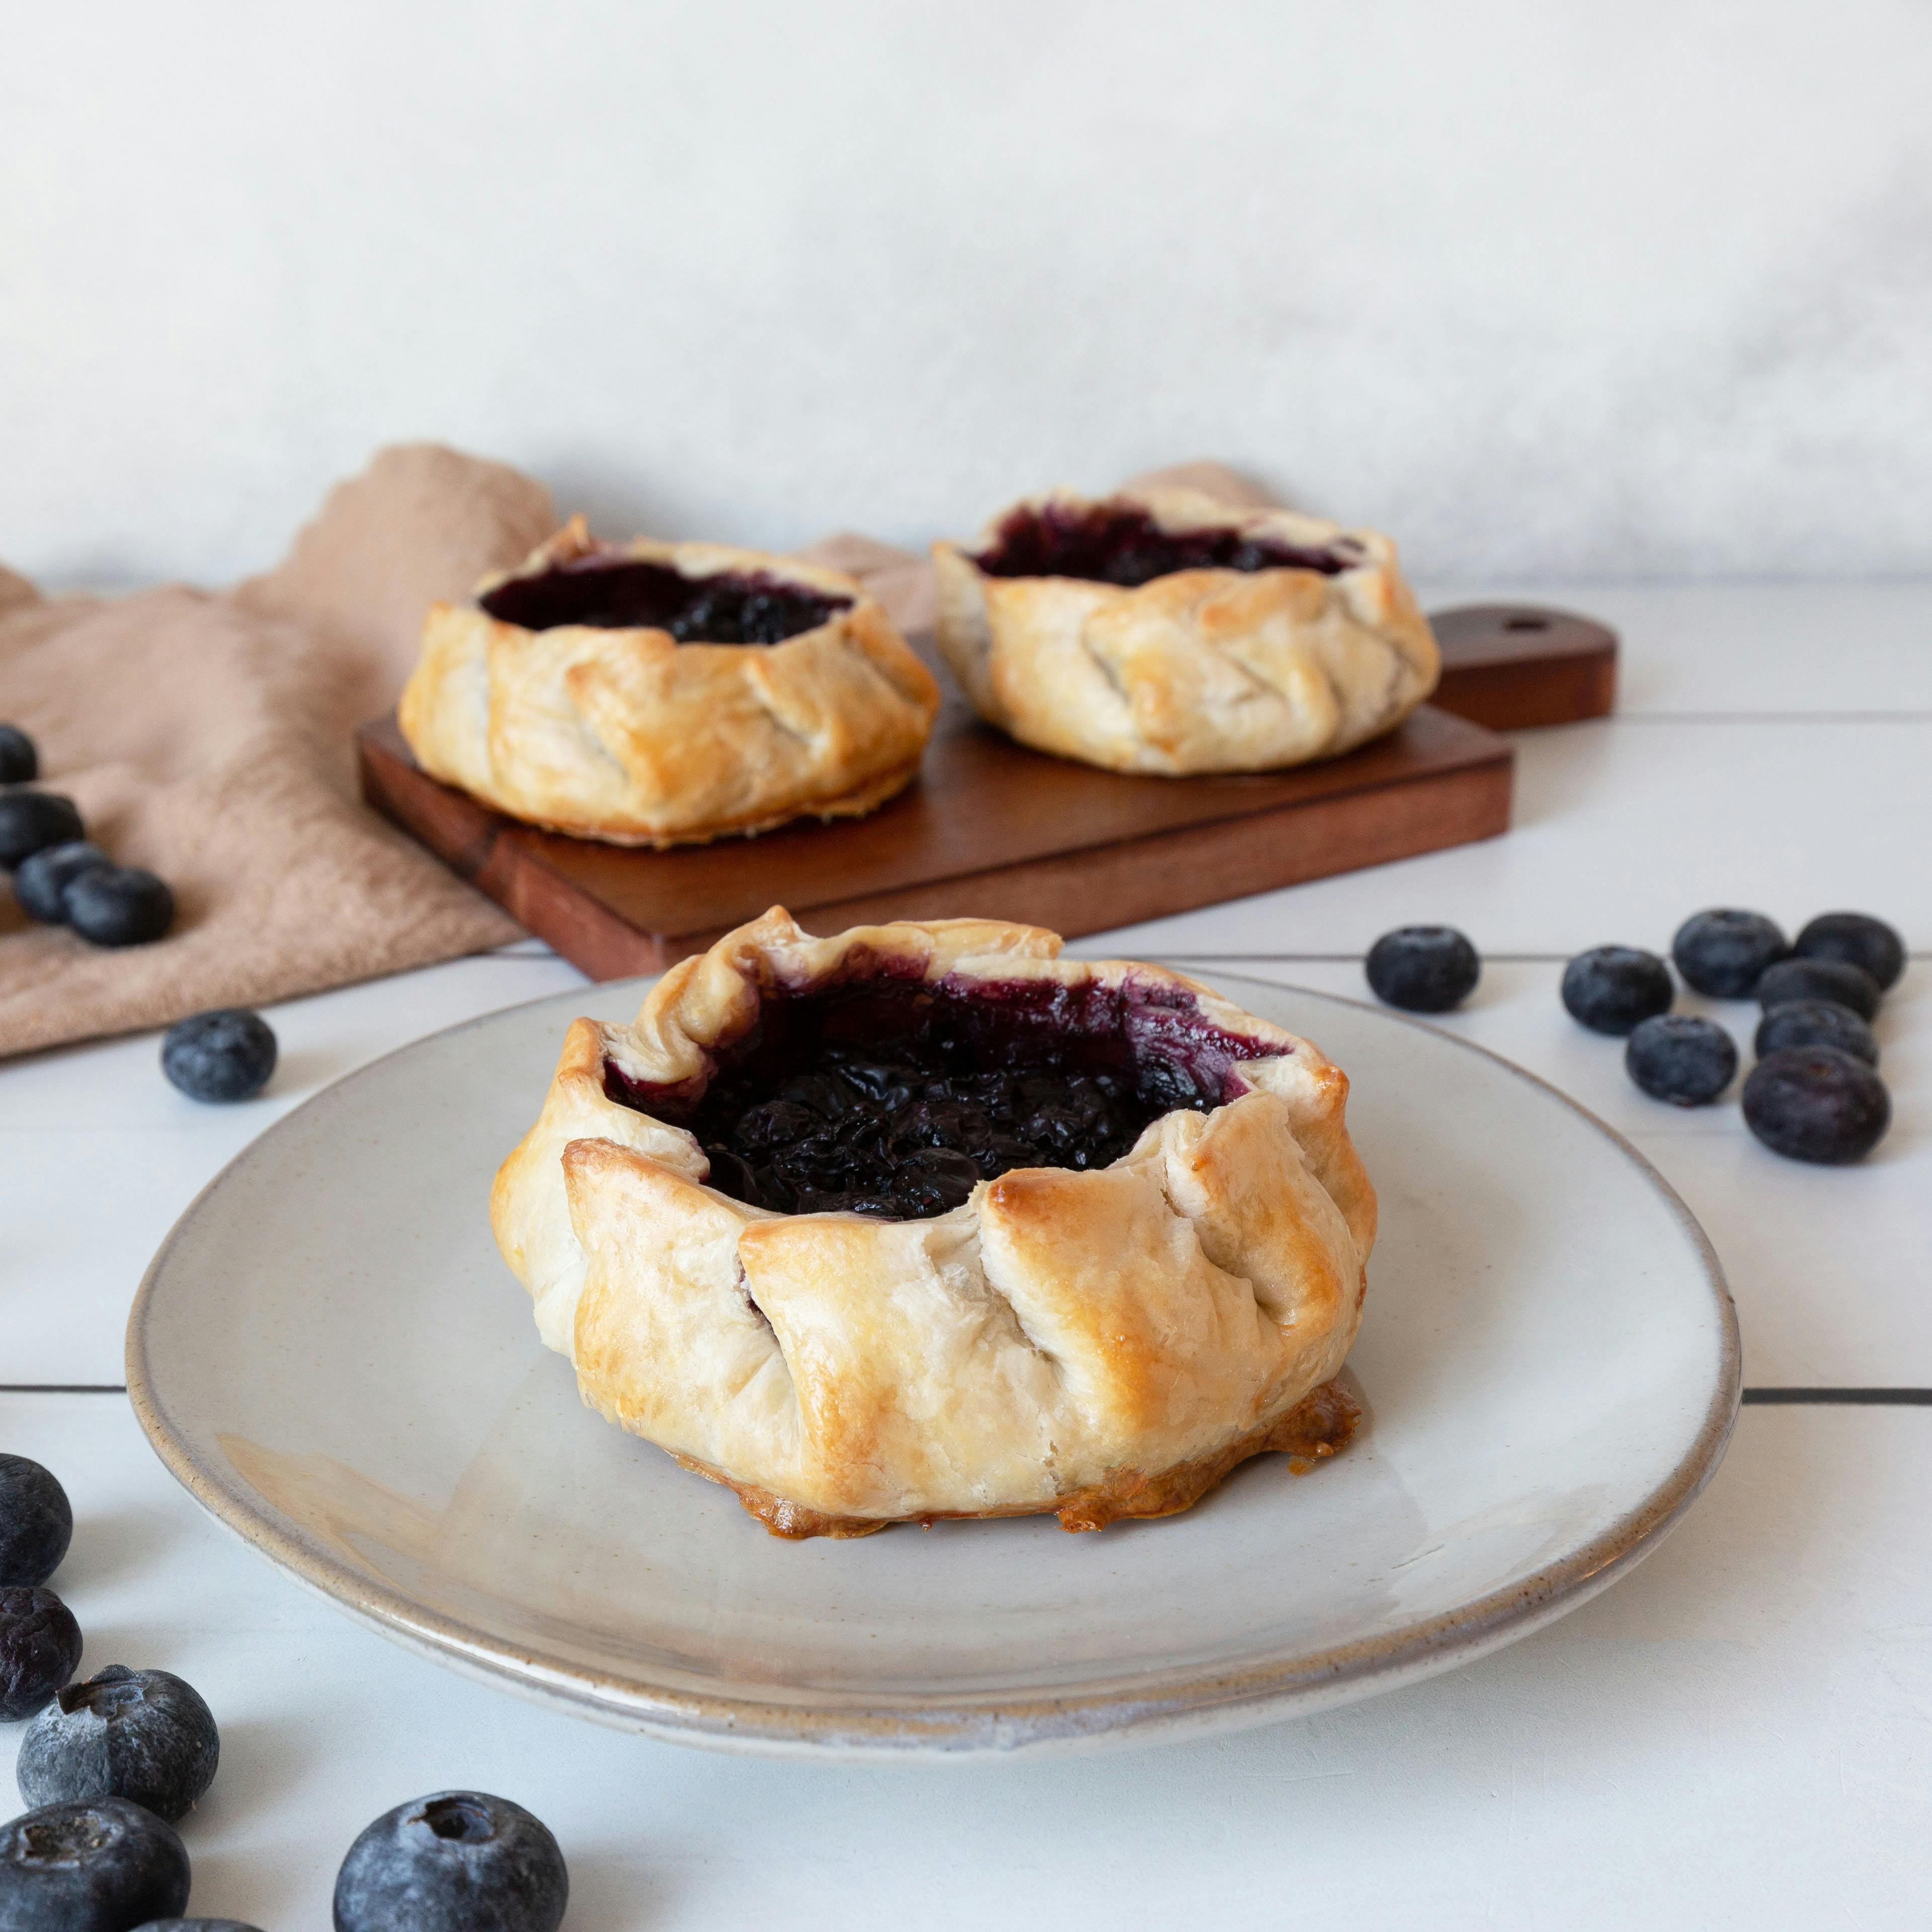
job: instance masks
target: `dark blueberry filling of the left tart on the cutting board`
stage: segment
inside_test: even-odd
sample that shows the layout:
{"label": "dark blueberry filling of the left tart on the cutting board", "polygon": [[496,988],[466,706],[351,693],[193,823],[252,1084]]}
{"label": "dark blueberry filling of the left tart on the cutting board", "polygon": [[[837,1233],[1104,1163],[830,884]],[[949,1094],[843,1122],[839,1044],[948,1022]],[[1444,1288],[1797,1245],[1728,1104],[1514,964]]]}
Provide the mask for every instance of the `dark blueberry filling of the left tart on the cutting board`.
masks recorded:
{"label": "dark blueberry filling of the left tart on the cutting board", "polygon": [[554,630],[668,630],[678,643],[784,643],[817,630],[850,597],[829,597],[765,572],[688,578],[636,556],[583,556],[541,576],[510,578],[481,599],[502,624]]}

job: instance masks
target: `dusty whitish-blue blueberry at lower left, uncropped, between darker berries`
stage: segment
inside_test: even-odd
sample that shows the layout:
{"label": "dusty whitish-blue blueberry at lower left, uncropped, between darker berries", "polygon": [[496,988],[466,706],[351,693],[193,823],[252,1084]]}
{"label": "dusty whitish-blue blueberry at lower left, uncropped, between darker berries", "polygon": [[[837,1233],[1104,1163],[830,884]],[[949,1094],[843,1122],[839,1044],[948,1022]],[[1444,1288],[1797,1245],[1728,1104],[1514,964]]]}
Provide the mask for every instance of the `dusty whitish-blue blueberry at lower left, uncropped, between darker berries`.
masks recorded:
{"label": "dusty whitish-blue blueberry at lower left, uncropped, between darker berries", "polygon": [[110,1663],[27,1725],[15,1776],[29,1804],[128,1799],[174,1824],[214,1781],[220,1754],[214,1714],[193,1685]]}

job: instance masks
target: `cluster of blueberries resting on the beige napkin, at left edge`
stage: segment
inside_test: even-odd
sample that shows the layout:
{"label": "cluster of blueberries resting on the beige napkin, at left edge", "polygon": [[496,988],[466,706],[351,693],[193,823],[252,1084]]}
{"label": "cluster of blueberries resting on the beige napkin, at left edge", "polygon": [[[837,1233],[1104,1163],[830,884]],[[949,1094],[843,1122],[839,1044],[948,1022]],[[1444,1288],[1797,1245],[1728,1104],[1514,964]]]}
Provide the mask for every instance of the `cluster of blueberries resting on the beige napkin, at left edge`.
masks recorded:
{"label": "cluster of blueberries resting on the beige napkin, at left edge", "polygon": [[116,866],[91,844],[73,800],[43,792],[41,753],[0,724],[0,867],[29,920],[71,925],[97,947],[141,947],[174,923],[174,893],[139,866]]}

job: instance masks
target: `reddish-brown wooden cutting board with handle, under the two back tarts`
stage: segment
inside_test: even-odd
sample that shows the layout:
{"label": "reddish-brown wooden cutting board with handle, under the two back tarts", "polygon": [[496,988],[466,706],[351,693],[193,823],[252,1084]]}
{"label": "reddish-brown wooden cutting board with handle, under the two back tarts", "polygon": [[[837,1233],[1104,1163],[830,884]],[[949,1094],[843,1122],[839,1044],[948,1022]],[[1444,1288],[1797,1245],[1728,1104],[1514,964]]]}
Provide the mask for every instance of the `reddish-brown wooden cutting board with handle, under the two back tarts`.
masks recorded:
{"label": "reddish-brown wooden cutting board with handle, under the two back tarts", "polygon": [[1434,703],[1347,757],[1256,777],[1138,779],[1028,752],[943,678],[906,792],[761,838],[651,852],[541,833],[427,777],[394,719],[357,734],[361,784],[593,980],[659,972],[775,904],[819,933],[972,914],[1072,939],[1507,831],[1515,752],[1490,726],[1607,711],[1615,636],[1528,605],[1432,622]]}

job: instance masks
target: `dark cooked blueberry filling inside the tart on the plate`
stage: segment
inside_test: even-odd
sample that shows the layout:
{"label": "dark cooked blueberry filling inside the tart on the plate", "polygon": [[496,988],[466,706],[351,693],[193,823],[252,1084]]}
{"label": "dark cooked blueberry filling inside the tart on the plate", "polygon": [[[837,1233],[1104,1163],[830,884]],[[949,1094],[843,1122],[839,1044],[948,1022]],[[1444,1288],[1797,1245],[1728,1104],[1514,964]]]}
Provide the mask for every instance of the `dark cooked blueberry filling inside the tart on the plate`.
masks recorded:
{"label": "dark cooked blueberry filling inside the tart on the plate", "polygon": [[1105,1167],[1150,1121],[1217,1097],[1173,1061],[1005,1072],[978,1068],[958,1036],[885,1055],[821,1039],[777,1090],[755,1072],[713,1080],[690,1128],[734,1200],[918,1221],[1009,1167]]}

